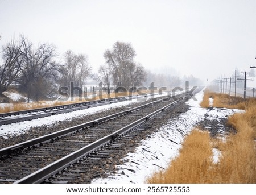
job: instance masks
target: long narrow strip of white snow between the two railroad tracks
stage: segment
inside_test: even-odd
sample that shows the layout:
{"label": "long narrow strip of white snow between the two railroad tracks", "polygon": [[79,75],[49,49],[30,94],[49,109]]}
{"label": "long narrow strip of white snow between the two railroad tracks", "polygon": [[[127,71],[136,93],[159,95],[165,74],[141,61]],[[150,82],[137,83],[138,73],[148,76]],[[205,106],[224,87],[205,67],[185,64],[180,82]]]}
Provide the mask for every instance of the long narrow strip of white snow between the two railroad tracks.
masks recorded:
{"label": "long narrow strip of white snow between the two railroad tracks", "polygon": [[[178,92],[176,94],[179,94],[179,93],[181,92]],[[82,115],[93,114],[93,113],[97,113],[98,111],[109,110],[115,107],[127,106],[127,105],[130,105],[131,103],[142,102],[142,101],[146,101],[148,98],[153,98],[153,97],[156,98],[160,96],[166,96],[166,93],[154,94],[154,96],[147,97],[147,98],[145,98],[144,96],[141,96],[139,98],[129,99],[127,101],[112,103],[109,105],[91,107],[89,109],[73,111],[70,113],[52,115],[50,117],[38,118],[32,121],[23,121],[23,122],[13,123],[9,125],[2,125],[0,126],[0,136],[3,136],[3,138],[7,139],[10,135],[22,134],[25,131],[29,130],[31,127],[51,125],[56,121],[67,121],[67,120],[71,120],[73,117],[79,118]]]}

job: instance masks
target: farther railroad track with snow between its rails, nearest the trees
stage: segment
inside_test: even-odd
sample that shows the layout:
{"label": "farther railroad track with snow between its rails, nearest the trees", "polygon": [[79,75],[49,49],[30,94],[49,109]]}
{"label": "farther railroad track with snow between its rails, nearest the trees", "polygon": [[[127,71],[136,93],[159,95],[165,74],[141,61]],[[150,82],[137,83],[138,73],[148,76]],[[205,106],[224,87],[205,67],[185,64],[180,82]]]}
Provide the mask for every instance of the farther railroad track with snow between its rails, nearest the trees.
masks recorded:
{"label": "farther railroad track with snow between its rails, nearest the trees", "polygon": [[[166,92],[167,93],[167,92]],[[151,94],[144,95],[150,96]],[[0,126],[8,125],[11,123],[22,122],[22,121],[31,121],[36,118],[49,117],[56,114],[69,113],[72,111],[88,109],[90,107],[107,105],[110,103],[117,103],[120,101],[125,101],[127,99],[134,99],[141,96],[127,96],[121,98],[109,98],[109,99],[100,99],[96,101],[86,101],[79,103],[71,103],[68,105],[60,105],[60,106],[49,106],[42,107],[38,109],[30,109],[30,110],[22,110],[22,111],[13,111],[10,113],[0,113]]]}

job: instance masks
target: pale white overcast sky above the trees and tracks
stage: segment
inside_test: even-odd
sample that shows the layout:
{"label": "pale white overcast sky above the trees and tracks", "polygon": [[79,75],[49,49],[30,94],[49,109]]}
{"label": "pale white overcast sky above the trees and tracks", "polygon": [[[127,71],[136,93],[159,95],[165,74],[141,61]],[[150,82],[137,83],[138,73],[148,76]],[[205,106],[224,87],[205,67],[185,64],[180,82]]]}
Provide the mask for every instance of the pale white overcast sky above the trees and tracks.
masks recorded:
{"label": "pale white overcast sky above the trees and tracks", "polygon": [[206,81],[256,65],[255,0],[0,0],[0,44],[25,35],[86,53],[94,71],[119,40],[152,72]]}

